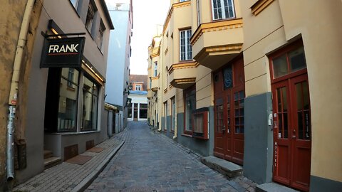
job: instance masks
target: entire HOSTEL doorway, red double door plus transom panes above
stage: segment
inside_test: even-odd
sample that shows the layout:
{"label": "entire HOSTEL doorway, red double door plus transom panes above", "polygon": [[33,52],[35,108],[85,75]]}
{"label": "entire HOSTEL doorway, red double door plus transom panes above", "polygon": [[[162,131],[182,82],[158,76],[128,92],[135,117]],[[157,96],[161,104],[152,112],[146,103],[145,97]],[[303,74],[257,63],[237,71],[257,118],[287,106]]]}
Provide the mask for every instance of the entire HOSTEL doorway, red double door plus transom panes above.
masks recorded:
{"label": "entire HOSTEL doorway, red double door plus transom panes above", "polygon": [[311,107],[304,47],[294,43],[270,56],[274,118],[273,179],[309,191]]}

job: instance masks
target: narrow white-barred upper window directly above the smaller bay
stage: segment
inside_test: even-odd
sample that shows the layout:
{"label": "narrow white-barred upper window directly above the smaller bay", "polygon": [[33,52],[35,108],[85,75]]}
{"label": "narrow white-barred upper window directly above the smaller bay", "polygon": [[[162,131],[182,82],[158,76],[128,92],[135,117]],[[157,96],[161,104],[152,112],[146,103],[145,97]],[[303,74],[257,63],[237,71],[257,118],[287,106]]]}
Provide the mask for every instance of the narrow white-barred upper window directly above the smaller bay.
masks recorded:
{"label": "narrow white-barred upper window directly above the smaller bay", "polygon": [[[184,45],[182,44],[183,38],[185,39]],[[190,44],[190,38],[191,29],[180,31],[180,60],[192,60],[192,47]],[[182,51],[182,48],[184,48],[185,51]]]}

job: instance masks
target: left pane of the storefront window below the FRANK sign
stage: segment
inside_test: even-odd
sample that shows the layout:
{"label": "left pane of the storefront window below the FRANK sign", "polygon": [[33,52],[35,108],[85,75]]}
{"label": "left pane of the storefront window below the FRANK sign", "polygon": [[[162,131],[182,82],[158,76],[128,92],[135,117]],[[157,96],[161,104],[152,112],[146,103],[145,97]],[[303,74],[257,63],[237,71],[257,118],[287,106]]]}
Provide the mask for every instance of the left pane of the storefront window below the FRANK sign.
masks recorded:
{"label": "left pane of the storefront window below the FRANK sign", "polygon": [[78,75],[78,70],[73,68],[62,69],[58,102],[58,132],[76,131]]}

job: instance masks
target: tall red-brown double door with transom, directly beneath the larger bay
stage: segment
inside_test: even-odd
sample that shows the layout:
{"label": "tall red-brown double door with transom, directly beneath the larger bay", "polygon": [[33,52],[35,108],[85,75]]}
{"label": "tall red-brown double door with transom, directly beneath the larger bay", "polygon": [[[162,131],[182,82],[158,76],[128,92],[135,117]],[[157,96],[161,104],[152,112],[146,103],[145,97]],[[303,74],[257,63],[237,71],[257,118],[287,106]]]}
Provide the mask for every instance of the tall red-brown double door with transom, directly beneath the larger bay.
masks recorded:
{"label": "tall red-brown double door with transom, directly beneath the larger bay", "polygon": [[214,155],[243,164],[244,65],[242,58],[214,74]]}

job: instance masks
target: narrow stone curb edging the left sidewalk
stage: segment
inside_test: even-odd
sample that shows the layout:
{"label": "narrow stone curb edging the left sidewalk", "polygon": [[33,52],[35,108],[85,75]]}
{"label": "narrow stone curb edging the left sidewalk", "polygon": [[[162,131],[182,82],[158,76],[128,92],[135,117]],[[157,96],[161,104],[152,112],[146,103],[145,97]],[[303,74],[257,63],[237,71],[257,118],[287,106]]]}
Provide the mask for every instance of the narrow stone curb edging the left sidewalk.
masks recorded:
{"label": "narrow stone curb edging the left sidewalk", "polygon": [[102,161],[100,165],[98,165],[98,167],[96,167],[95,170],[93,170],[88,176],[86,176],[86,178],[83,178],[81,183],[78,183],[78,185],[75,188],[73,188],[72,192],[85,191],[86,188],[88,188],[88,186],[90,186],[90,184],[95,180],[95,178],[98,177],[101,171],[105,169],[105,166],[107,166],[109,161],[113,159],[115,154],[118,153],[118,151],[120,150],[121,146],[123,146],[124,143],[125,143],[125,140],[121,142],[117,147],[115,147],[115,149],[113,149],[113,151]]}

